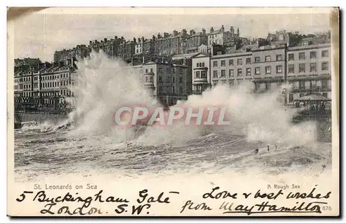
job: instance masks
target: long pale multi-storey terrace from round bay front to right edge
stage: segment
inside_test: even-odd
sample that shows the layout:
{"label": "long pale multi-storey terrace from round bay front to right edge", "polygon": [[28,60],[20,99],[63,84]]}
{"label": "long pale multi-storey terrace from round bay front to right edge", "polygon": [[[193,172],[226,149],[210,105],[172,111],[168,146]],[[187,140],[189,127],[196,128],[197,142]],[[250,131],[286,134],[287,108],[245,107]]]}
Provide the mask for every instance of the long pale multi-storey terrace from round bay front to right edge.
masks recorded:
{"label": "long pale multi-storey terrace from round bay front to right edge", "polygon": [[[292,87],[284,100],[288,105],[308,93],[331,98],[330,44],[326,43],[294,47],[271,44],[249,47],[241,53],[201,54],[192,58],[192,70],[194,93],[219,82],[236,87],[248,80],[256,93],[289,82]],[[201,71],[207,72],[202,75]]]}

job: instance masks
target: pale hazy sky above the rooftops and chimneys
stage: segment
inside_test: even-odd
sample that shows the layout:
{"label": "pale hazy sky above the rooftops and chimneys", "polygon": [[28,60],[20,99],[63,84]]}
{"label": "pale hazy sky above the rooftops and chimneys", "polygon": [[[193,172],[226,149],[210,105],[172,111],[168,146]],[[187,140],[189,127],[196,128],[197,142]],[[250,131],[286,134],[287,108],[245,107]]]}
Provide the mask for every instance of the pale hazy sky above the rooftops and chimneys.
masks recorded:
{"label": "pale hazy sky above the rooftops and chimneys", "polygon": [[[103,10],[100,13],[84,10],[64,11],[44,10],[35,14],[19,17],[14,21],[15,58],[39,57],[42,61],[51,62],[55,51],[73,48],[78,44],[89,44],[89,40],[111,39],[114,36],[133,39],[147,37],[158,33],[172,33],[183,28],[197,32],[202,28],[208,33],[210,27],[215,30],[224,25],[225,30],[234,26],[239,28],[242,37],[266,37],[275,30],[316,33],[329,30],[329,13],[297,13],[294,10],[281,13],[216,13],[199,8],[192,13],[184,11],[172,14],[134,13],[127,11],[113,13]],[[157,11],[156,11],[157,12]],[[174,12],[174,13],[173,13]],[[267,12],[267,11],[266,11]]]}

